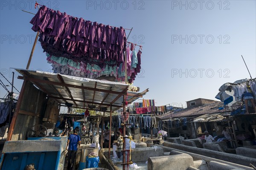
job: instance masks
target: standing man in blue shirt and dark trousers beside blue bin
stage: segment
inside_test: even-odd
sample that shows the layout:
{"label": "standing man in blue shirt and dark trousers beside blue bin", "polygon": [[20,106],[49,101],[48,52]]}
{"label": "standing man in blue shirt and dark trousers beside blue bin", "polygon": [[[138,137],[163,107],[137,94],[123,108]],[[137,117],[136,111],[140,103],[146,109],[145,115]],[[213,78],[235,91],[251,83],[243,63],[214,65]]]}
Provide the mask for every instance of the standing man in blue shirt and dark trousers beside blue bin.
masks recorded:
{"label": "standing man in blue shirt and dark trousers beside blue bin", "polygon": [[77,151],[77,144],[79,144],[79,147],[81,147],[81,139],[80,136],[77,134],[77,130],[73,130],[73,134],[70,134],[70,136],[67,139],[67,170],[72,170],[74,161],[76,158],[76,151]]}

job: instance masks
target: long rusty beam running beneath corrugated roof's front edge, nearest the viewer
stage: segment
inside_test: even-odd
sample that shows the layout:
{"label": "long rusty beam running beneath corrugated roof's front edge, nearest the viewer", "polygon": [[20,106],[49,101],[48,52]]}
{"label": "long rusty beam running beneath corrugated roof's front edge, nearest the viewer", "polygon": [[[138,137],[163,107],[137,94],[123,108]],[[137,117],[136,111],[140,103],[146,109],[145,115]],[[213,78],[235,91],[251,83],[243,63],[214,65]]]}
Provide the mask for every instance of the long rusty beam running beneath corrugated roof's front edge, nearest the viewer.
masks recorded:
{"label": "long rusty beam running beneath corrugated roof's front edge, nearest the viewer", "polygon": [[66,87],[70,87],[70,88],[79,88],[79,89],[90,90],[90,91],[99,91],[99,92],[105,92],[105,93],[111,93],[111,94],[121,94],[121,96],[123,95],[122,94],[123,91],[122,92],[108,91],[105,89],[90,88],[90,87],[85,87],[85,86],[81,86],[81,85],[71,85],[71,84],[66,84],[66,83],[61,83],[61,82],[52,82],[52,81],[47,81],[47,80],[43,80],[43,79],[35,79],[35,78],[23,77],[23,76],[18,76],[18,79],[23,79],[23,80],[26,79],[31,82],[40,82],[40,83],[45,83],[45,84],[49,84],[49,85],[66,86]]}

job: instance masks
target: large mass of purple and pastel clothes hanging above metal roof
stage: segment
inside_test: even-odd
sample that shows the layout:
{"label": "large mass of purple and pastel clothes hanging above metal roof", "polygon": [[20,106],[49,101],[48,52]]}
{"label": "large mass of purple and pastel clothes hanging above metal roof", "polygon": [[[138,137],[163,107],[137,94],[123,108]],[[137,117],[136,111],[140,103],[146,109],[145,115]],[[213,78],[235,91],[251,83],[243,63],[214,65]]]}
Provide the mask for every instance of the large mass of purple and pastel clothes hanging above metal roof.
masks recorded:
{"label": "large mass of purple and pastel clothes hanging above metal roof", "polygon": [[[127,48],[125,29],[41,6],[30,23],[39,31],[39,41],[55,73],[96,79],[113,76],[133,82],[140,73],[141,51]],[[130,54],[131,51],[131,54]],[[125,53],[127,59],[125,61]]]}

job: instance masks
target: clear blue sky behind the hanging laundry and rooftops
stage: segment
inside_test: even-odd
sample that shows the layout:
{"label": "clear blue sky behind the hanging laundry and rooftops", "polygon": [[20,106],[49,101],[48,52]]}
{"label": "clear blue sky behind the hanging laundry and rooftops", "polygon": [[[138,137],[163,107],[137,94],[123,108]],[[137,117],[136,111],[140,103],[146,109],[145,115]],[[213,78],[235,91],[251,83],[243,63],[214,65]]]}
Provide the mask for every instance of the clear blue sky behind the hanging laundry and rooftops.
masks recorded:
{"label": "clear blue sky behind the hanging laundry and rooftops", "polygon": [[[30,0],[0,3],[0,71],[11,81],[14,70],[10,68],[26,68],[36,35],[29,23],[33,15],[21,10],[36,13],[38,9]],[[241,55],[256,77],[255,0],[38,3],[85,20],[133,27],[129,41],[143,46],[142,71],[134,85],[141,91],[149,88],[144,99],[155,99],[156,105],[184,106],[192,99],[215,99],[225,82],[250,78]],[[51,72],[40,43],[29,69]],[[14,84],[20,90],[22,80],[16,73]],[[0,86],[0,97],[5,95]]]}

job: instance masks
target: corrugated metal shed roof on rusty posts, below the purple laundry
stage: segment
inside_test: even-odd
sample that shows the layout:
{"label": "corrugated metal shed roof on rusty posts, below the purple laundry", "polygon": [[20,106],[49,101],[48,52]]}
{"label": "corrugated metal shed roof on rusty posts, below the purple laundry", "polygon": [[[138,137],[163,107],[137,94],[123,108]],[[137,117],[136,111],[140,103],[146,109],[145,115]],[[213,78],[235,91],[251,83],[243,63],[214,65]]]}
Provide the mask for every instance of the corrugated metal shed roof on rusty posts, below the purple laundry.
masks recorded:
{"label": "corrugated metal shed roof on rusty posts, below the purple laundry", "polygon": [[[15,70],[23,75],[23,77],[18,77],[19,79],[27,79],[32,82],[41,91],[47,93],[50,98],[57,100],[58,103],[65,105],[67,101],[79,108],[84,108],[85,102],[85,107],[96,105],[96,109],[99,109],[100,106],[105,106],[110,111],[109,106],[111,104],[114,111],[122,107],[123,94],[126,94],[129,86],[119,82],[73,77],[43,71],[18,68],[15,68]],[[147,91],[148,89],[142,93],[129,91],[127,101],[134,102],[140,98],[138,96],[143,96]]]}

